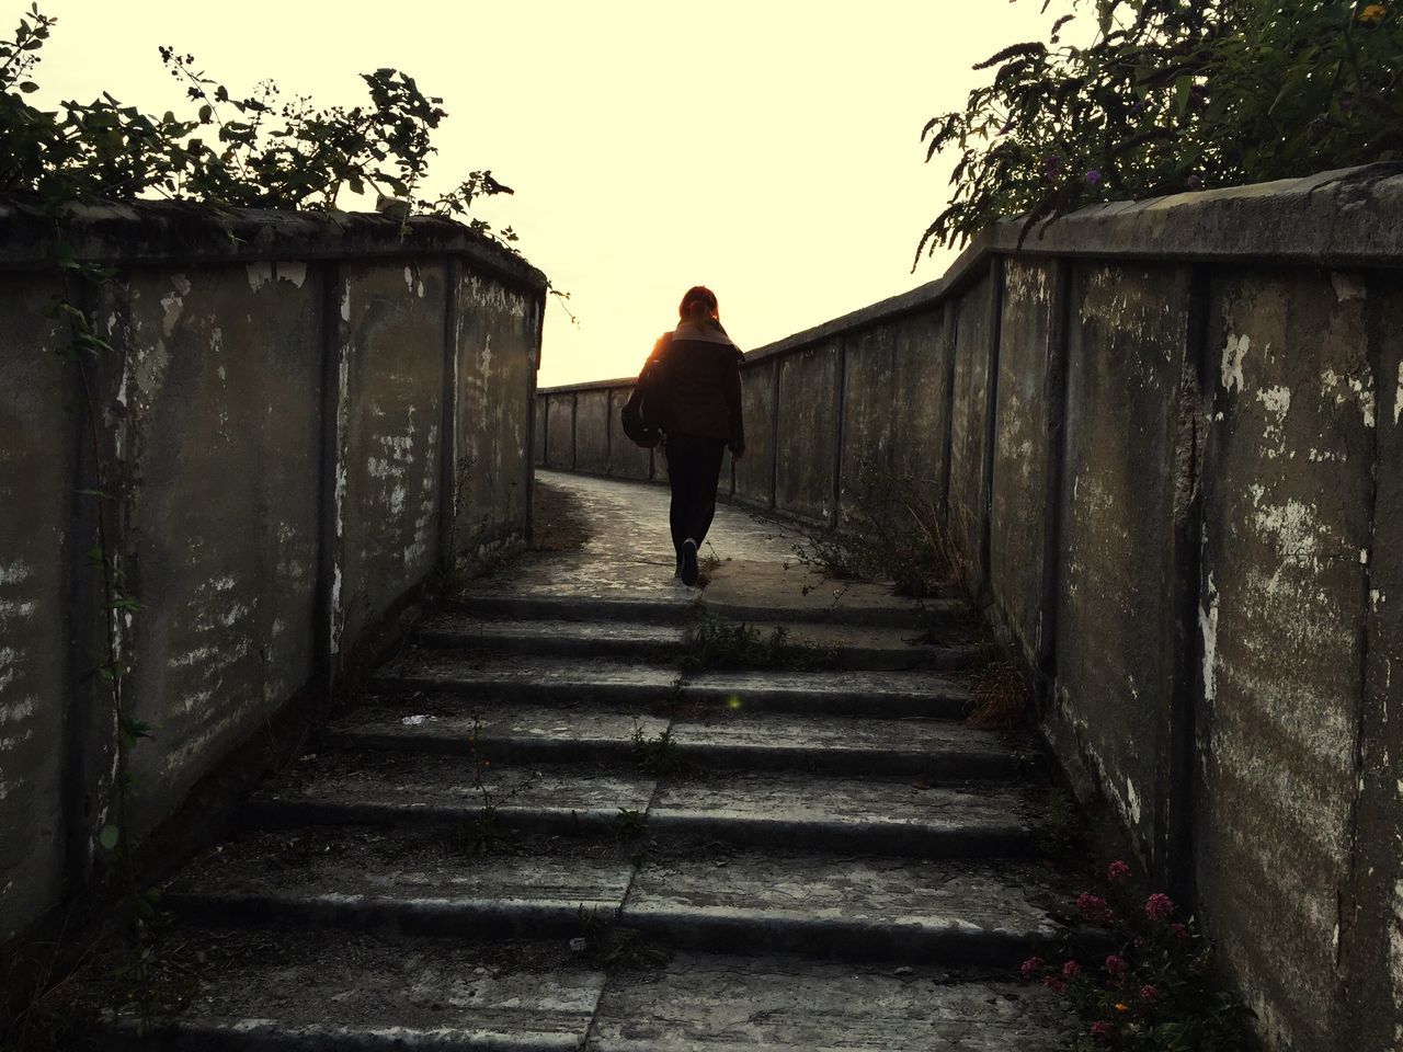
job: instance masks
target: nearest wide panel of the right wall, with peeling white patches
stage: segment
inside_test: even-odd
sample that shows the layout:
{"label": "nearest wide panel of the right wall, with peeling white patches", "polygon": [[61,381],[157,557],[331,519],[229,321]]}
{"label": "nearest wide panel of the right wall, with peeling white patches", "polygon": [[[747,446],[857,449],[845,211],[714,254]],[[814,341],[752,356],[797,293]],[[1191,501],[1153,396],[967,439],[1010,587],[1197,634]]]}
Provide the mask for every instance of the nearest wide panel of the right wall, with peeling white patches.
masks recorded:
{"label": "nearest wide panel of the right wall, with peeling white patches", "polygon": [[1267,1034],[1324,1048],[1348,1011],[1320,978],[1355,864],[1382,401],[1367,283],[1249,271],[1218,276],[1212,300],[1200,889]]}

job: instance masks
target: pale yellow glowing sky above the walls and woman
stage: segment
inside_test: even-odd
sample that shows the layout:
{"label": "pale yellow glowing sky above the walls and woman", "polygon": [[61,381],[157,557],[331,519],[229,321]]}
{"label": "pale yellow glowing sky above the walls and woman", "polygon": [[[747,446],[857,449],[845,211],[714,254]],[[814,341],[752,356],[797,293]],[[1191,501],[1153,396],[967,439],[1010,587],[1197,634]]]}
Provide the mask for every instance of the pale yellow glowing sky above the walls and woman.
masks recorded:
{"label": "pale yellow glowing sky above the walls and woman", "polygon": [[[10,0],[7,22],[29,0]],[[1000,48],[1045,39],[1038,0],[46,0],[59,25],[35,98],[107,90],[181,108],[157,45],[243,94],[356,104],[394,66],[449,118],[428,189],[491,168],[484,217],[571,293],[551,303],[543,386],[636,373],[687,286],[742,349],[939,278],[911,272],[948,161],[920,128],[962,107]],[[354,206],[352,202],[345,202]]]}

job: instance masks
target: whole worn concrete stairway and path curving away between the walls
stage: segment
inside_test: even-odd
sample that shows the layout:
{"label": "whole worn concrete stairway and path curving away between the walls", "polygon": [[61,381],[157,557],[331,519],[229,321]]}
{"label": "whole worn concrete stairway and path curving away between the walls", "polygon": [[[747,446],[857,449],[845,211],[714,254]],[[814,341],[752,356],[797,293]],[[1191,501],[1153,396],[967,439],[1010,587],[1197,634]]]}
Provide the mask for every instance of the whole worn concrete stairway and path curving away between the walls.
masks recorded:
{"label": "whole worn concrete stairway and path curving away between the walls", "polygon": [[[198,987],[142,1046],[1061,1048],[1016,980],[1063,934],[1044,788],[962,722],[969,612],[929,605],[915,645],[909,603],[727,508],[689,591],[665,490],[543,485],[584,547],[427,616],[170,882]],[[825,666],[679,680],[703,607]]]}

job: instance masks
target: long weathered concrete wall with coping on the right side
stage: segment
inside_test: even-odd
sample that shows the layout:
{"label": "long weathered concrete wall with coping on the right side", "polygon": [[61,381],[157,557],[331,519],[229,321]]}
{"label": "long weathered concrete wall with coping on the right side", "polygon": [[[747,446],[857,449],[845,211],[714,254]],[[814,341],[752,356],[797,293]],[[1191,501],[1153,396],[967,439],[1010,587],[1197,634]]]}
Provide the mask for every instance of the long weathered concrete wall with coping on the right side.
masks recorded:
{"label": "long weathered concrete wall with coping on the right side", "polygon": [[735,499],[822,527],[867,463],[926,487],[1267,1045],[1403,1046],[1403,175],[1020,234],[751,352]]}

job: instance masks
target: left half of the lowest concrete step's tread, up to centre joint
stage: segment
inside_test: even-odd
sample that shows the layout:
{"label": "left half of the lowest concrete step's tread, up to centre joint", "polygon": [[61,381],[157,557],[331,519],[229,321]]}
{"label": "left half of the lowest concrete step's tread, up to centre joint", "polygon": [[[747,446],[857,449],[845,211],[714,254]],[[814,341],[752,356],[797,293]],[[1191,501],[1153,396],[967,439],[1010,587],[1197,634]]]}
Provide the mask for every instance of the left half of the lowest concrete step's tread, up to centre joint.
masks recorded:
{"label": "left half of the lowest concrete step's tread, up to centre joint", "polygon": [[606,982],[558,944],[178,926],[159,952],[194,989],[184,1011],[157,1017],[156,1037],[132,1038],[137,1048],[281,1039],[564,1052],[581,1046]]}

